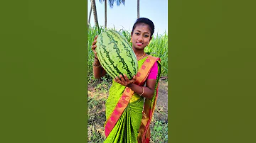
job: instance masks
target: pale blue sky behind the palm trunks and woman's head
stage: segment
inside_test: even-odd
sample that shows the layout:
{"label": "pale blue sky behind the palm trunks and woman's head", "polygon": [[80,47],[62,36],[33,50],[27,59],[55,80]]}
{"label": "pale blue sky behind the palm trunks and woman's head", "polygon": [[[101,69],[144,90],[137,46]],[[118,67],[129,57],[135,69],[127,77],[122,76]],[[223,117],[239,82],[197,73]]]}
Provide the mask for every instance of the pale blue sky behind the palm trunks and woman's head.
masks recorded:
{"label": "pale blue sky behind the palm trunks and woman's head", "polygon": [[[90,13],[90,0],[88,1],[88,16]],[[105,25],[105,6],[99,0],[95,0],[97,8],[97,18],[99,25]],[[140,0],[139,17],[149,18],[155,25],[155,33],[168,33],[168,3],[167,0]],[[124,30],[132,30],[132,26],[137,20],[137,0],[127,0],[125,4],[117,6],[114,2],[113,8],[107,1],[107,28],[116,28]],[[90,24],[94,25],[93,13],[90,18]]]}

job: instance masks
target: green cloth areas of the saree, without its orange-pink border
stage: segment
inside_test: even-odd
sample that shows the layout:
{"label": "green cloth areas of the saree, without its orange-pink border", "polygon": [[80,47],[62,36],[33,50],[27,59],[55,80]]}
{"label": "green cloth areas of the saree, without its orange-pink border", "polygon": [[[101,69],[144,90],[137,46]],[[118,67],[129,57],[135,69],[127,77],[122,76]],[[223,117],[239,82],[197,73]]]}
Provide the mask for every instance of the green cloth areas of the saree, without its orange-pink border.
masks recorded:
{"label": "green cloth areas of the saree, without its orange-pink border", "polygon": [[[138,61],[139,69],[142,67],[142,64],[148,59],[148,57],[145,57],[144,59],[141,59]],[[159,74],[160,74],[160,66],[159,66]],[[154,92],[154,97],[150,100],[150,103],[155,103],[156,97],[157,97],[157,88],[158,88],[158,82],[159,82],[159,74],[157,76],[156,81],[156,88]],[[147,76],[148,74],[146,74]],[[145,79],[146,79],[145,76]],[[141,83],[141,85],[144,85],[145,81]],[[112,86],[110,88],[110,95],[107,98],[106,102],[106,117],[107,121],[112,120],[112,114],[116,112],[115,108],[117,108],[117,105],[119,105],[119,100],[122,99],[122,95],[124,94],[124,91],[127,91],[127,88],[125,86],[122,86],[121,84],[118,84],[114,80],[112,81]],[[129,92],[129,91],[128,91]],[[122,114],[119,115],[119,118],[117,119],[117,122],[114,123],[112,130],[107,130],[105,128],[105,133],[107,139],[105,139],[105,143],[114,143],[114,142],[124,142],[124,143],[135,143],[142,142],[140,140],[143,140],[142,137],[138,137],[139,130],[142,130],[142,113],[144,112],[144,98],[142,96],[139,96],[137,93],[133,93],[132,97],[128,99],[127,106],[124,107],[124,110],[122,111]],[[153,105],[153,104],[152,104]],[[120,105],[120,108],[123,105]],[[154,110],[154,105],[151,106],[151,109]],[[151,118],[148,119],[149,122]],[[107,122],[106,121],[106,122]],[[111,123],[111,122],[110,122]],[[109,125],[105,125],[109,126]],[[146,126],[146,125],[145,125]],[[145,128],[145,127],[144,127]],[[141,131],[143,132],[149,132],[145,129]],[[141,134],[142,134],[141,133]]]}

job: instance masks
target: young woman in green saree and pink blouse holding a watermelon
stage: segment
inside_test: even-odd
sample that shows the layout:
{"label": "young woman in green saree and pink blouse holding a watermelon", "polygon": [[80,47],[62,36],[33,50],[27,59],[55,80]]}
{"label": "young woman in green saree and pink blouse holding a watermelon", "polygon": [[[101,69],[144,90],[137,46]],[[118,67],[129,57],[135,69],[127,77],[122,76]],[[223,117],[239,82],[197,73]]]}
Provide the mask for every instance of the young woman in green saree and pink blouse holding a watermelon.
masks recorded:
{"label": "young woman in green saree and pink blouse holding a watermelon", "polygon": [[[144,52],[154,33],[154,23],[148,18],[138,18],[131,33],[132,49],[137,56],[139,71],[133,79],[126,75],[112,81],[106,102],[105,142],[149,142],[149,123],[154,113],[160,75],[160,59]],[[92,42],[95,53],[93,72],[95,78],[105,76],[95,52],[97,36]],[[145,98],[145,99],[144,99]]]}

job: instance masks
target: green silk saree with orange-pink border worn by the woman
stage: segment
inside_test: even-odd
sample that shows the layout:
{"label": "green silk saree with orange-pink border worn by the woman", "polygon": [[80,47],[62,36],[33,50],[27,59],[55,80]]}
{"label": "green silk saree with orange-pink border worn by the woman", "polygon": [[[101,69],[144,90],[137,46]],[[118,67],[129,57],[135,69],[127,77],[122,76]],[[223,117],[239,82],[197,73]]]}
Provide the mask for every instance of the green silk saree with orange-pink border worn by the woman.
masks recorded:
{"label": "green silk saree with orange-pink border worn by the woman", "polygon": [[[161,73],[160,59],[152,56],[144,57],[138,61],[139,71],[137,81],[134,84],[144,86],[146,78],[154,62],[158,62],[158,75],[153,98],[151,100],[137,93],[130,88],[118,84],[114,80],[110,87],[110,95],[106,102],[105,122],[105,143],[108,142],[149,142],[149,123],[154,113],[156,105],[157,91],[159,86],[159,76]],[[148,64],[151,63],[151,64]],[[153,64],[152,64],[153,63]],[[149,66],[150,65],[150,66]],[[148,68],[145,72],[144,69]],[[138,78],[138,76],[140,76]]]}

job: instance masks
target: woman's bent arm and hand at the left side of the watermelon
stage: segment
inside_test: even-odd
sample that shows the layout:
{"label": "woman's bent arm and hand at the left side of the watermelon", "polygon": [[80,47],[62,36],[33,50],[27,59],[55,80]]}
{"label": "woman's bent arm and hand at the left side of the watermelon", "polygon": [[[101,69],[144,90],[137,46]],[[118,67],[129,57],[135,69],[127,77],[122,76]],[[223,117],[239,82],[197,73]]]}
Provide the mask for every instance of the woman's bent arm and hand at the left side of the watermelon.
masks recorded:
{"label": "woman's bent arm and hand at the left side of the watermelon", "polygon": [[102,76],[105,76],[106,71],[102,68],[99,59],[97,59],[97,52],[95,50],[95,48],[97,47],[96,42],[97,35],[95,36],[95,39],[92,42],[92,51],[95,53],[95,58],[93,62],[93,76],[95,76],[95,79],[100,79]]}

